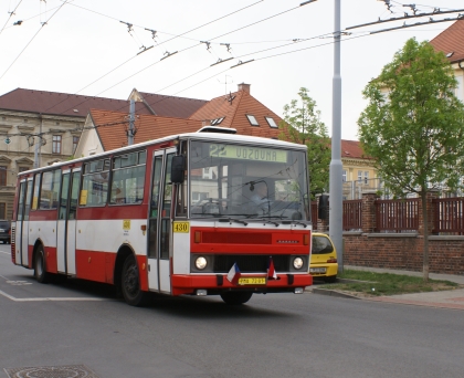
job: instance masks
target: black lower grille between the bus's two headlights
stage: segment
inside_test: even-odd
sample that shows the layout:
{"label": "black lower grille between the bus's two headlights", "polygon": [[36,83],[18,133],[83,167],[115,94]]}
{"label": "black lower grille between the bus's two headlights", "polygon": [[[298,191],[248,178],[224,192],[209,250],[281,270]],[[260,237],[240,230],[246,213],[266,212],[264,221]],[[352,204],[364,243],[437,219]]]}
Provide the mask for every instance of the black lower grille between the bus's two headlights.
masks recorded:
{"label": "black lower grille between the bus's two headlights", "polygon": [[[289,269],[289,255],[276,254],[272,256],[276,272],[287,272]],[[242,273],[266,273],[268,255],[214,255],[214,273],[228,273],[232,265],[236,263]]]}

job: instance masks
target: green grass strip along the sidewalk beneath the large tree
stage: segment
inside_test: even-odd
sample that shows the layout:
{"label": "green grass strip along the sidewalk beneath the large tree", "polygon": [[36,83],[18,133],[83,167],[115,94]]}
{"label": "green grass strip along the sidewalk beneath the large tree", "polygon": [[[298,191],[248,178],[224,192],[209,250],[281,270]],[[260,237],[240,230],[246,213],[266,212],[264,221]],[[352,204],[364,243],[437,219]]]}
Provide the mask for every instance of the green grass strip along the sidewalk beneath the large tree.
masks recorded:
{"label": "green grass strip along the sidewalk beneath the large tree", "polygon": [[350,292],[357,295],[380,296],[409,293],[424,293],[464,287],[455,282],[429,280],[411,275],[375,273],[366,271],[344,270],[339,279],[357,280],[352,283],[337,283],[319,287]]}

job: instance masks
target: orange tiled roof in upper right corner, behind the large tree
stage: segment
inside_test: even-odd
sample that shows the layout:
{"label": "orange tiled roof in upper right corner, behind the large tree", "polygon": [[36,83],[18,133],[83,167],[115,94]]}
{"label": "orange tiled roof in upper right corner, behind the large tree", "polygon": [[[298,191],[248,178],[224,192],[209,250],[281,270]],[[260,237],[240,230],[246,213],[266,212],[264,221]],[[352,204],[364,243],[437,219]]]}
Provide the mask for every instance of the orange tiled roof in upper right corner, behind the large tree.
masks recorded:
{"label": "orange tiled roof in upper right corner, behind the large tree", "polygon": [[464,61],[464,19],[457,20],[450,28],[436,35],[430,43],[435,51],[444,54],[453,53],[449,57],[450,63]]}

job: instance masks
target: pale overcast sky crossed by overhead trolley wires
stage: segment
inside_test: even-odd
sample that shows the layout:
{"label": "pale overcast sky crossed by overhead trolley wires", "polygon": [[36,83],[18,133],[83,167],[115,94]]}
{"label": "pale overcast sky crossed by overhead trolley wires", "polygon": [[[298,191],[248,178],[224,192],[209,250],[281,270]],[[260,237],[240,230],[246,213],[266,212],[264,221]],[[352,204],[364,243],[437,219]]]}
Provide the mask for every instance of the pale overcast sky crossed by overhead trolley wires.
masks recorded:
{"label": "pale overcast sky crossed by overhead trolley wires", "polygon": [[[60,0],[0,0],[0,94],[22,87],[127,98],[136,87],[211,99],[236,91],[244,82],[251,84],[255,98],[282,115],[283,106],[305,86],[331,134],[334,0],[298,7],[303,1],[74,0],[63,6]],[[391,0],[389,11],[383,1],[341,0],[341,29],[412,14],[403,3],[412,2]],[[415,6],[419,13],[432,12],[434,7],[443,11],[464,8],[462,0],[420,3]],[[21,25],[13,25],[19,20]],[[130,33],[120,21],[133,24]],[[424,21],[428,18],[407,23]],[[366,106],[361,92],[394,52],[409,38],[431,40],[451,25],[443,22],[368,33],[402,23],[370,25],[344,36],[344,139],[358,138],[357,119]],[[155,40],[145,29],[157,31]],[[200,41],[210,42],[209,50]],[[300,49],[305,50],[291,53]],[[211,66],[229,57],[233,60]],[[243,64],[250,60],[254,61]],[[240,61],[243,65],[231,69]]]}

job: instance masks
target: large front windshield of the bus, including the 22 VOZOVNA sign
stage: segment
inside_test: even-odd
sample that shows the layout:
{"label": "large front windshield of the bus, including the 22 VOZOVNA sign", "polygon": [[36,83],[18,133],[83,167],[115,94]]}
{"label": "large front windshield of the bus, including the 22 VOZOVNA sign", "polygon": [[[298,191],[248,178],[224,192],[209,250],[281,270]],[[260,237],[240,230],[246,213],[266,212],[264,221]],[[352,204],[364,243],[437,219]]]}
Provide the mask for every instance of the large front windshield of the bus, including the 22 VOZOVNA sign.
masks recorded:
{"label": "large front windshield of the bus, including the 22 VOZOVNA sign", "polygon": [[304,151],[192,140],[191,218],[309,220]]}

